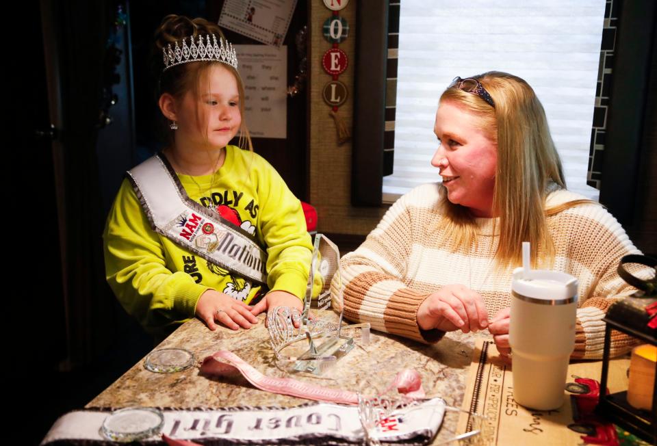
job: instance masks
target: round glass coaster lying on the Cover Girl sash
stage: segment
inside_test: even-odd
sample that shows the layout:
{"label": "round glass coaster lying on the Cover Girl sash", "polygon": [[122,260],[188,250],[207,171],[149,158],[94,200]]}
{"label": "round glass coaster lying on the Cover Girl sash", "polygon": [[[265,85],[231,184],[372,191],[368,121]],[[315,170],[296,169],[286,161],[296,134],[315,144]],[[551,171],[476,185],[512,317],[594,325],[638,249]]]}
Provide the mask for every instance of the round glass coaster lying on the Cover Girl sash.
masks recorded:
{"label": "round glass coaster lying on the Cover Girl sash", "polygon": [[164,415],[155,408],[129,407],[114,410],[103,421],[101,433],[120,443],[142,440],[157,435],[164,425]]}

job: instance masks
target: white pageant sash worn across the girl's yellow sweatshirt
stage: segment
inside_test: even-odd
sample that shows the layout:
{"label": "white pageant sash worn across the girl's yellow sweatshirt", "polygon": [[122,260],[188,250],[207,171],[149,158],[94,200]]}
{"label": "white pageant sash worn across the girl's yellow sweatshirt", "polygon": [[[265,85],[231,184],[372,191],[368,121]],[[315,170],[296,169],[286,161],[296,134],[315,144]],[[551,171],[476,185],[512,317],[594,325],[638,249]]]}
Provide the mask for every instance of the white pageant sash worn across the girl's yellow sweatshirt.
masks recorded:
{"label": "white pageant sash worn across the girl's yellow sweatshirt", "polygon": [[207,261],[266,285],[267,254],[242,228],[189,198],[164,156],[128,172],[153,229]]}

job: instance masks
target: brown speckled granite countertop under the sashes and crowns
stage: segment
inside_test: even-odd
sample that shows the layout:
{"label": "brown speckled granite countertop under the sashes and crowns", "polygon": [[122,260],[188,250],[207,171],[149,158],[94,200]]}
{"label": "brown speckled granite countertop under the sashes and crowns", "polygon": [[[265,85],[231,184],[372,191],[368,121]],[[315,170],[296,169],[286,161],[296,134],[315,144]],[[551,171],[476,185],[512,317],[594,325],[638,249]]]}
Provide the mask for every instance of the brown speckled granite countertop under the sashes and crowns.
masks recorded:
{"label": "brown speckled granite countertop under the sashes and crowns", "polygon": [[[331,311],[319,313],[322,319],[337,322]],[[474,338],[461,332],[448,333],[433,345],[372,331],[370,343],[361,346],[360,329],[350,330],[357,346],[337,365],[316,377],[295,373],[294,378],[335,389],[361,391],[374,396],[383,393],[403,369],[415,369],[422,376],[428,397],[440,396],[448,406],[460,407],[465,377],[470,365]],[[486,333],[487,332],[483,332]],[[483,335],[481,333],[480,335]],[[344,334],[344,332],[343,332]],[[95,397],[86,408],[151,406],[171,408],[222,408],[227,406],[298,406],[306,399],[276,395],[255,389],[242,376],[207,378],[199,374],[203,358],[218,350],[230,350],[267,376],[287,377],[276,367],[269,343],[264,315],[250,330],[218,328],[211,332],[203,322],[191,319],[154,350],[183,347],[196,356],[196,366],[179,373],[153,373],[144,369],[144,360],[131,367],[114,384]],[[443,422],[443,431],[456,429],[458,414]],[[445,429],[448,428],[448,429]],[[441,431],[441,433],[443,433]]]}

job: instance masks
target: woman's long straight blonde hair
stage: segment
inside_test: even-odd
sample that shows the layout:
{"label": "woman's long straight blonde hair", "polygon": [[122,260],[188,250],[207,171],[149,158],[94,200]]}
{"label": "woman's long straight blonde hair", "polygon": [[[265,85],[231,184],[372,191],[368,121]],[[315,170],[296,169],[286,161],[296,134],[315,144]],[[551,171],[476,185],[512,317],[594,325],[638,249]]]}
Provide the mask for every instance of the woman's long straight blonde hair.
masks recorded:
{"label": "woman's long straight blonde hair", "polygon": [[[493,215],[500,218],[500,241],[495,253],[498,265],[519,265],[523,241],[532,245],[532,263],[554,259],[548,232],[545,197],[548,183],[565,188],[561,159],[550,136],[545,111],[534,90],[519,77],[490,71],[472,76],[489,92],[495,107],[477,94],[457,86],[448,88],[440,102],[463,107],[480,118],[480,128],[497,143]],[[454,248],[476,244],[474,216],[461,205],[443,200],[441,224]]]}

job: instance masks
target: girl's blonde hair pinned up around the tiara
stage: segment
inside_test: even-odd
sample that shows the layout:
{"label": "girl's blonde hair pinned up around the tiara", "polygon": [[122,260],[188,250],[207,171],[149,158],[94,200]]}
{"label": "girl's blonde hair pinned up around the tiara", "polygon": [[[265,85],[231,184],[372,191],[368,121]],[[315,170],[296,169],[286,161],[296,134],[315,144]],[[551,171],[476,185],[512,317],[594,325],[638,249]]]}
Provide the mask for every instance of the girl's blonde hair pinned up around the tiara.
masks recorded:
{"label": "girl's blonde hair pinned up around the tiara", "polygon": [[[248,149],[253,152],[253,142],[251,142],[250,133],[246,127],[246,117],[244,116],[244,83],[242,77],[237,70],[228,64],[222,62],[208,61],[208,62],[190,62],[188,64],[180,64],[164,70],[164,61],[162,59],[162,48],[167,44],[174,43],[185,37],[196,37],[198,35],[205,36],[206,34],[215,34],[224,38],[224,34],[220,27],[211,23],[205,18],[190,19],[185,16],[177,16],[170,14],[164,19],[155,31],[155,46],[153,47],[153,54],[151,55],[151,70],[153,75],[158,79],[157,88],[155,90],[155,99],[159,99],[163,93],[168,93],[177,100],[181,100],[185,93],[192,92],[194,97],[201,98],[201,90],[203,89],[201,83],[204,77],[209,72],[209,68],[214,65],[222,66],[228,70],[235,81],[237,82],[237,90],[240,92],[240,114],[242,115],[242,123],[240,124],[240,140],[238,145],[240,148]],[[196,107],[196,122],[201,120],[201,107],[200,101]],[[163,116],[163,129],[166,127],[166,118]],[[207,123],[206,123],[207,125]],[[207,129],[204,129],[207,138]],[[168,131],[168,142],[172,143],[173,134]]]}

